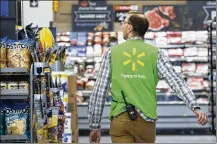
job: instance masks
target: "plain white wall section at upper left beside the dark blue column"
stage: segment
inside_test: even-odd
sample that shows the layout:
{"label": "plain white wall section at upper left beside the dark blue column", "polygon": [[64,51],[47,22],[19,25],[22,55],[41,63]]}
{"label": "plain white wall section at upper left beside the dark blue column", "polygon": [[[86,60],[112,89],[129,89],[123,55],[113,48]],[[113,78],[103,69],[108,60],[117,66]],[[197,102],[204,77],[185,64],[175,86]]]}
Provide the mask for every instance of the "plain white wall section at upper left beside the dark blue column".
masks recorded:
{"label": "plain white wall section at upper left beside the dark blue column", "polygon": [[23,25],[30,23],[39,27],[49,27],[53,21],[52,1],[38,1],[38,7],[30,7],[29,1],[23,1]]}

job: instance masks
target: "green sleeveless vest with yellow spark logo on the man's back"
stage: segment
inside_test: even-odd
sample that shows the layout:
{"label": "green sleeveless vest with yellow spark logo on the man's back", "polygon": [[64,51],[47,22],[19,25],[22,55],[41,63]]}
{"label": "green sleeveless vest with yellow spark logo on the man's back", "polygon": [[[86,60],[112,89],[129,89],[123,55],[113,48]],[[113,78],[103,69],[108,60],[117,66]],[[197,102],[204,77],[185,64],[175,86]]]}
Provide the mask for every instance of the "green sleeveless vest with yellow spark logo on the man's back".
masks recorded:
{"label": "green sleeveless vest with yellow spark logo on the man's back", "polygon": [[111,48],[111,117],[121,114],[126,101],[149,118],[157,118],[158,49],[143,40],[127,40]]}

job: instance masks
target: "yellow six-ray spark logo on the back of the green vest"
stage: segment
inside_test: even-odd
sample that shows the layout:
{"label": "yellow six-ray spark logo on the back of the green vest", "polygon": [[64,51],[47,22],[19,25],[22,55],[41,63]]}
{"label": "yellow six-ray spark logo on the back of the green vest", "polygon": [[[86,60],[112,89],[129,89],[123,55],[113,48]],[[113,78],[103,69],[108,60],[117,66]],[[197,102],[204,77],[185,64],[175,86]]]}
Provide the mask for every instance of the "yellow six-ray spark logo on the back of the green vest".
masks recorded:
{"label": "yellow six-ray spark logo on the back of the green vest", "polygon": [[133,56],[131,56],[131,55],[130,55],[129,53],[127,53],[127,52],[124,52],[123,54],[124,54],[125,56],[127,56],[127,57],[130,58],[130,59],[124,61],[124,62],[123,62],[123,65],[125,66],[125,65],[128,65],[128,64],[132,63],[132,71],[135,71],[135,70],[136,70],[136,63],[138,63],[138,64],[139,64],[140,66],[142,66],[142,67],[144,66],[144,63],[139,60],[139,58],[145,56],[145,53],[144,53],[144,52],[143,52],[143,53],[140,53],[140,54],[138,54],[138,55],[136,56],[136,58],[137,58],[137,60],[135,60],[136,62],[131,59],[133,56],[136,55],[136,48],[133,48]]}

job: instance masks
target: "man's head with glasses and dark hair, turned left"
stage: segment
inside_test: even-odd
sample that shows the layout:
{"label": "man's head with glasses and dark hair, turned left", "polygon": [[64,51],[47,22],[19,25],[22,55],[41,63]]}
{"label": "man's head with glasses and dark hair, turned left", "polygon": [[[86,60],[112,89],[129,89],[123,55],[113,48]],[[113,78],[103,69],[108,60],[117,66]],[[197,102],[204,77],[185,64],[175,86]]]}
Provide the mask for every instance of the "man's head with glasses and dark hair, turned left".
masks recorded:
{"label": "man's head with glasses and dark hair, turned left", "polygon": [[122,24],[122,31],[124,39],[128,39],[131,36],[138,36],[143,38],[148,30],[149,23],[143,14],[129,13]]}

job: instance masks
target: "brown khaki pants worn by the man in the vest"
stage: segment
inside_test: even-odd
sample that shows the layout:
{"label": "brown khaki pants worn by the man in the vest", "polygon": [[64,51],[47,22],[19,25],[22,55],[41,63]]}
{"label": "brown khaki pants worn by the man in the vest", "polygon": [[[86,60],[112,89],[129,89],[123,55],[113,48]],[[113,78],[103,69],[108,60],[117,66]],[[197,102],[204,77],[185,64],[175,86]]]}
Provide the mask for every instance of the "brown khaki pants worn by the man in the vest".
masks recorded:
{"label": "brown khaki pants worn by the man in the vest", "polygon": [[156,125],[138,114],[137,119],[132,121],[124,112],[112,119],[110,135],[112,143],[155,143]]}

